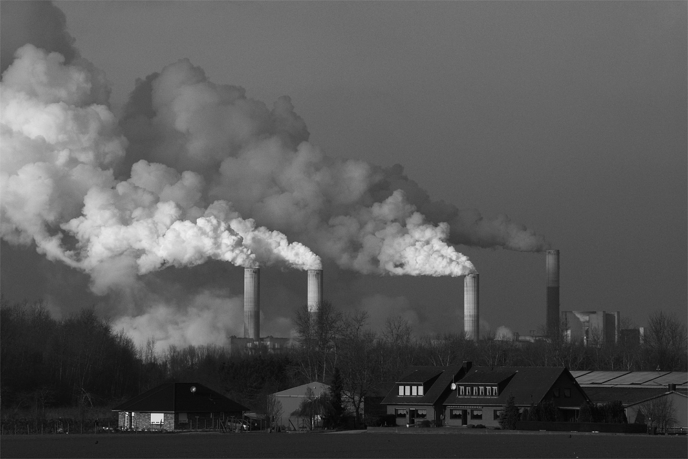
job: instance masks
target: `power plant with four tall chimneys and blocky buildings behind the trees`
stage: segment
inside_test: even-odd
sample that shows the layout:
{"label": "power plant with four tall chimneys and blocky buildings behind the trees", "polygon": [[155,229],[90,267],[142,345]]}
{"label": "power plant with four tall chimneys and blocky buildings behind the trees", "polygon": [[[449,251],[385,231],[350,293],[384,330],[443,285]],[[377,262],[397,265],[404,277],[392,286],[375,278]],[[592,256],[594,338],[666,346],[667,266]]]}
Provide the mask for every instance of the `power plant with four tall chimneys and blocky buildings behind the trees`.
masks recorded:
{"label": "power plant with four tall chimneys and blocky buildings behind the trees", "polygon": [[[307,271],[308,312],[315,314],[323,302],[323,270]],[[567,341],[583,341],[587,344],[593,337],[602,337],[605,342],[619,341],[632,330],[620,330],[619,312],[605,311],[559,311],[559,250],[546,251],[546,336],[519,337],[518,341],[552,339],[559,333]],[[563,325],[563,330],[561,326]],[[244,336],[229,337],[231,351],[267,350],[283,352],[290,345],[290,338],[261,337],[260,332],[260,268],[244,268]],[[480,340],[480,275],[464,276],[464,334],[466,339]],[[632,334],[632,333],[630,333]],[[642,334],[642,330],[641,330]],[[635,339],[635,337],[631,337]]]}

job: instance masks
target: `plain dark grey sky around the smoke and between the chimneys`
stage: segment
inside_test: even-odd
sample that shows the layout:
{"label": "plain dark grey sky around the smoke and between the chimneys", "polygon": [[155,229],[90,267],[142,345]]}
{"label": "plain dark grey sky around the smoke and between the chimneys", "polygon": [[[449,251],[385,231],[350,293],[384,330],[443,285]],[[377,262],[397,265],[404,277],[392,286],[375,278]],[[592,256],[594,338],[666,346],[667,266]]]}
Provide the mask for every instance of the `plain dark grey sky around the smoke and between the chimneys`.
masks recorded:
{"label": "plain dark grey sky around the smoke and between the chimneys", "polygon": [[[664,310],[685,321],[688,3],[54,4],[81,56],[105,72],[116,114],[136,78],[189,58],[268,106],[290,96],[327,156],[402,164],[433,200],[544,235],[561,250],[561,310],[619,310],[641,326]],[[528,334],[544,323],[543,253],[457,250],[480,272],[484,328]],[[152,291],[193,290],[189,317],[227,298],[239,307],[242,273],[228,264],[144,277]],[[8,299],[43,298],[55,314],[92,303],[114,318],[158,311],[151,330],[171,314],[149,299],[122,310],[117,295],[89,292],[83,273],[4,241],[1,281]],[[266,333],[286,334],[305,274],[266,269],[262,284]],[[419,333],[462,331],[461,277],[330,267],[325,289],[341,308],[368,310],[378,329],[402,314]]]}

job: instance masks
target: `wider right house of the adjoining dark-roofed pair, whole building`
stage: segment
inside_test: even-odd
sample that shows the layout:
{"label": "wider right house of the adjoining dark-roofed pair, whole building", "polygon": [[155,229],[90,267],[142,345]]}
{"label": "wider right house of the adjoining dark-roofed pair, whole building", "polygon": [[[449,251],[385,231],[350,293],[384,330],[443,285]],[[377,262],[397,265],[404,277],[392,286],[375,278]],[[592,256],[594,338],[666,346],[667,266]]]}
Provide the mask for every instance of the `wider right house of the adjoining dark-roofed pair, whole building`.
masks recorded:
{"label": "wider right house of the adjoining dark-roofed pair, whole building", "polygon": [[442,401],[444,425],[499,426],[509,396],[520,409],[552,401],[563,421],[574,420],[590,403],[565,367],[471,367]]}

